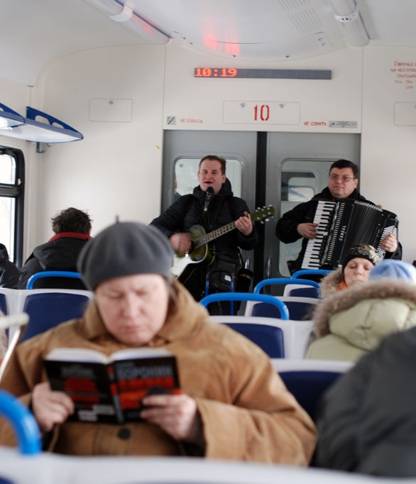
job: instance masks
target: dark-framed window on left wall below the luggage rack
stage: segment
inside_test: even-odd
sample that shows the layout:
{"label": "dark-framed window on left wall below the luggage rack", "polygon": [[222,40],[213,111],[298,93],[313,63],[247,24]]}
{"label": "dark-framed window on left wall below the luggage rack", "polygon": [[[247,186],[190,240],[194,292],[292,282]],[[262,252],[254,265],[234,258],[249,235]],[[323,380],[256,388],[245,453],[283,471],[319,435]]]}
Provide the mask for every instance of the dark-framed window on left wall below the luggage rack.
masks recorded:
{"label": "dark-framed window on left wall below the luggage rack", "polygon": [[0,243],[18,266],[23,249],[23,195],[23,153],[0,146]]}

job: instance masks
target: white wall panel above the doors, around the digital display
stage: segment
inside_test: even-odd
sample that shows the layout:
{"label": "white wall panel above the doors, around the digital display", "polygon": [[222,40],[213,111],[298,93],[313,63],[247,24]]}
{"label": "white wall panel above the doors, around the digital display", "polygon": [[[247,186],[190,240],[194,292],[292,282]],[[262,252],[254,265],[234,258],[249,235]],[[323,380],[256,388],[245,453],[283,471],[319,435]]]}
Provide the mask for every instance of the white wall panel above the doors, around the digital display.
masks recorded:
{"label": "white wall panel above the doors, around the digital display", "polygon": [[[238,67],[254,69],[332,70],[332,79],[240,79],[194,77],[196,67]],[[218,71],[221,72],[221,69]],[[166,59],[165,129],[204,129],[237,131],[298,131],[359,133],[361,131],[362,49],[345,48],[334,53],[285,62],[244,62],[197,55],[168,45]],[[300,106],[297,123],[264,122],[252,109],[253,120],[230,123],[224,106],[229,101],[251,104],[274,102]],[[271,114],[270,106],[270,114]],[[274,109],[274,108],[273,108]],[[278,109],[278,108],[277,108]],[[354,121],[335,124],[330,121]],[[341,127],[346,126],[346,127]]]}

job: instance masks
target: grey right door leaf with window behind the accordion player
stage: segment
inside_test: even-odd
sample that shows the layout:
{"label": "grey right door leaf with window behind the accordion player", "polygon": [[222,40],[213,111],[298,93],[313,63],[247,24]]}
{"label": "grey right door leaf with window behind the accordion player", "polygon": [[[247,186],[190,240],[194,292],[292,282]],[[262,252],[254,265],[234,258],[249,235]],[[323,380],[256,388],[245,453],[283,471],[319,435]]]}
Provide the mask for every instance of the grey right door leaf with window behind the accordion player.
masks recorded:
{"label": "grey right door leaf with window behind the accordion player", "polygon": [[[268,133],[266,200],[276,208],[276,218],[321,192],[335,160],[359,165],[360,141],[358,134]],[[266,226],[264,277],[288,276],[287,262],[297,258],[301,241],[281,243],[275,224]]]}

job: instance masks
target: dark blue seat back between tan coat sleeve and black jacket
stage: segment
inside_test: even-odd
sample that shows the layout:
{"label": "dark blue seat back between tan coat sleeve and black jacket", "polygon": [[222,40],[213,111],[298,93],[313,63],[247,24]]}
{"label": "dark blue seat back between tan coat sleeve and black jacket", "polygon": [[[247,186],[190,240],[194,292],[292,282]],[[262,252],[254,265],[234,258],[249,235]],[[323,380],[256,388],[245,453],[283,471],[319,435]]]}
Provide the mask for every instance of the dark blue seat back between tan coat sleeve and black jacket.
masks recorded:
{"label": "dark blue seat back between tan coat sleeve and black jacket", "polygon": [[326,370],[290,370],[282,371],[279,375],[297,402],[310,414],[312,420],[315,420],[319,398],[342,373]]}

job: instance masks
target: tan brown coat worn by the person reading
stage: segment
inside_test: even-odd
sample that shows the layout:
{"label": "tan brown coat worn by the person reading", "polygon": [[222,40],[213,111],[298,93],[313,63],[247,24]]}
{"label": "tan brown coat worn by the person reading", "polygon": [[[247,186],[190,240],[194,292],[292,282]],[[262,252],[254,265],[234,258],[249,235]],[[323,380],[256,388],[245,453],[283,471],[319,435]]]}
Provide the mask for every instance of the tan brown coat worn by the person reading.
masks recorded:
{"label": "tan brown coat worn by the person reading", "polygon": [[[177,356],[182,390],[195,397],[205,456],[305,466],[315,445],[314,424],[286,390],[268,356],[228,327],[209,322],[207,311],[177,282],[177,304],[148,346]],[[105,329],[92,304],[82,319],[68,321],[16,348],[1,387],[31,400],[45,380],[42,358],[59,346],[92,348],[109,355],[125,348]],[[119,436],[121,427],[130,431]],[[126,432],[124,432],[125,436]],[[0,444],[11,444],[0,424]],[[66,422],[55,427],[49,450],[77,455],[161,455],[183,446],[146,422],[119,425]]]}

